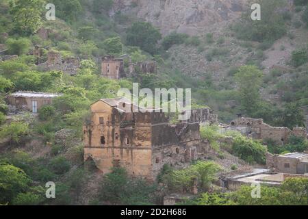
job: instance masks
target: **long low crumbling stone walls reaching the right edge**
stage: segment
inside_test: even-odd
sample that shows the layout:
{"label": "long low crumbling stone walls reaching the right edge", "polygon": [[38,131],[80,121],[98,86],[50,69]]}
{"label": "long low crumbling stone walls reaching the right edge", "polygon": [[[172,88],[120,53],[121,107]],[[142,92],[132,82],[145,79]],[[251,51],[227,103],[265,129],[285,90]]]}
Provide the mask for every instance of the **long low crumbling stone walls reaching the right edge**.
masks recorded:
{"label": "long low crumbling stone walls reaching the right edge", "polygon": [[292,135],[306,138],[307,131],[302,127],[295,127],[293,130],[287,127],[272,127],[263,122],[263,119],[238,118],[230,123],[227,130],[240,131],[246,136],[258,140],[271,139],[278,144],[285,144]]}

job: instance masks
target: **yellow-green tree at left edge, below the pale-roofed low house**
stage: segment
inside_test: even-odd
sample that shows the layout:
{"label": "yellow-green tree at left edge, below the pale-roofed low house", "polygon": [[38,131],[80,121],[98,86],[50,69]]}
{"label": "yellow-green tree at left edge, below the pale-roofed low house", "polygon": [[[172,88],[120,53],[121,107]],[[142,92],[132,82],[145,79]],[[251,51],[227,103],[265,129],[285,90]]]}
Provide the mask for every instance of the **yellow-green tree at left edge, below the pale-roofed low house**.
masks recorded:
{"label": "yellow-green tree at left edge, below the pale-roofed low house", "polygon": [[3,125],[0,129],[1,138],[10,138],[11,142],[18,143],[23,136],[29,132],[29,125],[21,122],[12,122],[10,125]]}

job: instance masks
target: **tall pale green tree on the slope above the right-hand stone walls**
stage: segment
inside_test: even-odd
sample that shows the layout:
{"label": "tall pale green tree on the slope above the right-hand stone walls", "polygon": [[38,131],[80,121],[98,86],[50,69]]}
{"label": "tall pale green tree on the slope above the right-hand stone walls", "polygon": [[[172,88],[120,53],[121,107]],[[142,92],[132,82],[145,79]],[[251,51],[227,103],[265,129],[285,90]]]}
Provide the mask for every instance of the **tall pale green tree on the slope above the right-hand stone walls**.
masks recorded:
{"label": "tall pale green tree on the slope above the right-hand stone walls", "polygon": [[248,115],[255,111],[260,101],[259,89],[262,77],[263,73],[256,66],[242,66],[235,74],[241,107]]}

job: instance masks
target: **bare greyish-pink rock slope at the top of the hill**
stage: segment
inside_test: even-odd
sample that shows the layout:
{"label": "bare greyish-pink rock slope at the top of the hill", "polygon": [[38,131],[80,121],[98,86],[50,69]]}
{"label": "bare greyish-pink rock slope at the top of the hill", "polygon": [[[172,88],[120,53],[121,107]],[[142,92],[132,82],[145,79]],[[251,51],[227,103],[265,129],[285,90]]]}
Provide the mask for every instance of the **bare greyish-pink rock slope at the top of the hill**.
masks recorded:
{"label": "bare greyish-pink rock slope at the top of the hill", "polygon": [[161,29],[195,35],[209,27],[238,18],[247,0],[115,0],[110,15],[137,14]]}

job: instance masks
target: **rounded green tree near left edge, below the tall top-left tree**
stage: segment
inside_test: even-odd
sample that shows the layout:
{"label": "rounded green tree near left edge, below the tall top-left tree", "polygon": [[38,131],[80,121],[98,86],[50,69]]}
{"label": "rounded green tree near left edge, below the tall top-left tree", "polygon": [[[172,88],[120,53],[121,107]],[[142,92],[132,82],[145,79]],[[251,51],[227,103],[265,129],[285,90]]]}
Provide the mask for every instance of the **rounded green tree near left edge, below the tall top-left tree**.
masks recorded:
{"label": "rounded green tree near left edge, below the tall top-left tree", "polygon": [[5,45],[8,47],[8,53],[10,55],[23,55],[29,51],[31,41],[27,38],[9,38],[5,41]]}

